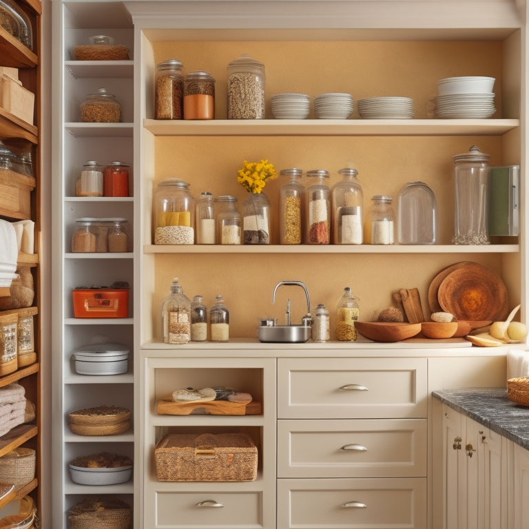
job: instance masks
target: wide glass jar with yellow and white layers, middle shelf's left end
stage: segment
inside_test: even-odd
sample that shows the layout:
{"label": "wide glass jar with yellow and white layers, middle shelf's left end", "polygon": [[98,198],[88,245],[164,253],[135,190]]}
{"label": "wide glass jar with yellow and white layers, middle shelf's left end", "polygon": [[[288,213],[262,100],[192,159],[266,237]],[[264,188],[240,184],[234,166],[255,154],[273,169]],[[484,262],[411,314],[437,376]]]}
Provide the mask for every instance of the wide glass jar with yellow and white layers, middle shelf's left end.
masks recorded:
{"label": "wide glass jar with yellow and white layers, middle shelf's left end", "polygon": [[195,200],[189,184],[168,178],[156,188],[155,245],[192,245],[195,238]]}

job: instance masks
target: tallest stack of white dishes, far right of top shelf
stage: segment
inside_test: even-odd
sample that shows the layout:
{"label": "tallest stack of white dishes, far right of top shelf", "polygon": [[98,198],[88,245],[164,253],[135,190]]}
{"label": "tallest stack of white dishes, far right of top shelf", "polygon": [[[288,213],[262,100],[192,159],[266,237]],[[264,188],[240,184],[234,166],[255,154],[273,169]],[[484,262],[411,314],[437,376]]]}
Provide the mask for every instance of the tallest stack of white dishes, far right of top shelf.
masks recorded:
{"label": "tallest stack of white dishes, far right of top shelf", "polygon": [[445,119],[490,118],[494,106],[494,77],[447,77],[437,81],[435,117]]}

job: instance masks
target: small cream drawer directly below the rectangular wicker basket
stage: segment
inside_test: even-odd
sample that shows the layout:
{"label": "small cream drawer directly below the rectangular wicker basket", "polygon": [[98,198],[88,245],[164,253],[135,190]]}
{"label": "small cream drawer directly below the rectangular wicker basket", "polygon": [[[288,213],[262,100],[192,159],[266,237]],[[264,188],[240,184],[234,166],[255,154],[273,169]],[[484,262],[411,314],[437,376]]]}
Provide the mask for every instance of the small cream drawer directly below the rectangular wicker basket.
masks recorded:
{"label": "small cream drawer directly below the rectangular wicker basket", "polygon": [[154,528],[262,527],[262,494],[251,492],[156,492]]}

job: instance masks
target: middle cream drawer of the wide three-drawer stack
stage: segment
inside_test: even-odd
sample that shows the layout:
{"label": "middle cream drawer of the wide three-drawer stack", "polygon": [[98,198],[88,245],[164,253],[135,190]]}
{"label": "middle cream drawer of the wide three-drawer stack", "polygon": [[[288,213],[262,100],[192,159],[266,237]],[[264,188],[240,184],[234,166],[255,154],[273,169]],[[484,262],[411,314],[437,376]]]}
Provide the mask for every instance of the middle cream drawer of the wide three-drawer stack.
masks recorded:
{"label": "middle cream drawer of the wide three-drawer stack", "polygon": [[426,419],[278,421],[278,477],[426,476]]}

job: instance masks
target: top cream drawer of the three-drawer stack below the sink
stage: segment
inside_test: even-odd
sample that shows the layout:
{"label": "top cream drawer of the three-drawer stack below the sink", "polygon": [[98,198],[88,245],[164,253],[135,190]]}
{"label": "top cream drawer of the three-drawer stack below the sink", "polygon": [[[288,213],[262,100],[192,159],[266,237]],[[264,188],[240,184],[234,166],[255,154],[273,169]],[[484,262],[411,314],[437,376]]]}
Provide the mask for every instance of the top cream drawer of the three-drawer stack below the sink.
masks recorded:
{"label": "top cream drawer of the three-drawer stack below the sink", "polygon": [[278,360],[278,417],[426,417],[426,358]]}

